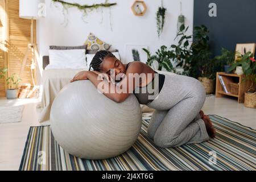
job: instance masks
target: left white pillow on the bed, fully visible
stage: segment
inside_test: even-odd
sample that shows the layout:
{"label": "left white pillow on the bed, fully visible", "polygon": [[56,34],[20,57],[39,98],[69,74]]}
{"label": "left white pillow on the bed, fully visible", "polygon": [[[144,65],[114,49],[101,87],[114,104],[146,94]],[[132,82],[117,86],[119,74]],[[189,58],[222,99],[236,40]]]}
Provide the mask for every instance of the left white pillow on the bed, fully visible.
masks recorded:
{"label": "left white pillow on the bed, fully visible", "polygon": [[49,66],[52,68],[84,69],[85,49],[49,50]]}

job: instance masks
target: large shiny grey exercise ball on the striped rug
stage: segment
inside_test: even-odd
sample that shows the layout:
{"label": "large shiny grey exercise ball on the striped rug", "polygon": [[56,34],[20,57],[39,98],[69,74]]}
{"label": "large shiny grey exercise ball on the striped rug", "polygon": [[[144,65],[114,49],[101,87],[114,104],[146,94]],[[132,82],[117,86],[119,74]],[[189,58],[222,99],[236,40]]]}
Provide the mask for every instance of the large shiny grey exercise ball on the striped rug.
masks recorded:
{"label": "large shiny grey exercise ball on the striped rug", "polygon": [[133,146],[142,125],[141,107],[130,96],[117,104],[89,80],[69,83],[53,101],[52,134],[69,154],[84,159],[108,159]]}

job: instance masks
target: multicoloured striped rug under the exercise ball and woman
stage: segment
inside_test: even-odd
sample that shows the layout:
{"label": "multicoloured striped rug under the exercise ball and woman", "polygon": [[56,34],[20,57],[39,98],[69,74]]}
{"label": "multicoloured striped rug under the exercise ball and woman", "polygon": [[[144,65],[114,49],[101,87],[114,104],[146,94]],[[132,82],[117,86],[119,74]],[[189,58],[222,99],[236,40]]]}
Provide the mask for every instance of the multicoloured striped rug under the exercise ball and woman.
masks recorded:
{"label": "multicoloured striped rug under the exercise ball and woman", "polygon": [[49,126],[31,127],[19,170],[255,170],[256,132],[210,115],[216,139],[176,148],[159,148],[147,137],[149,119],[129,151],[112,159],[76,158],[61,148]]}

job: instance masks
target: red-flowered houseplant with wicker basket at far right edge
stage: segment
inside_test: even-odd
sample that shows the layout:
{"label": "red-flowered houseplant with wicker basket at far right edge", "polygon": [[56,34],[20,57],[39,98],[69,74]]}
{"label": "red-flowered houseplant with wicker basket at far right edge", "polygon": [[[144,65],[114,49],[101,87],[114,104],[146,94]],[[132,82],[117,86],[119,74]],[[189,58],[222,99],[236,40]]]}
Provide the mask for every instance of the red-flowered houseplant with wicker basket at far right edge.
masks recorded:
{"label": "red-flowered houseplant with wicker basket at far right edge", "polygon": [[234,70],[238,66],[242,67],[242,71],[246,76],[245,80],[250,81],[250,87],[245,93],[244,104],[246,107],[256,108],[256,60],[254,59],[253,53],[246,52],[240,61],[232,64],[229,71]]}

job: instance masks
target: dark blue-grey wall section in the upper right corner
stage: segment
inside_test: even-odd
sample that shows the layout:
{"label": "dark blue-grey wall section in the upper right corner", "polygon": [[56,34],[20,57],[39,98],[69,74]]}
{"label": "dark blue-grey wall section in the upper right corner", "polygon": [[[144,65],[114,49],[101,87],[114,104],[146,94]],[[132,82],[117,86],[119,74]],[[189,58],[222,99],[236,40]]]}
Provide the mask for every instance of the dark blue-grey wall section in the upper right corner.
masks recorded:
{"label": "dark blue-grey wall section in the upper right corner", "polygon": [[[217,17],[210,17],[209,3],[216,3]],[[256,43],[256,0],[194,0],[194,26],[210,31],[210,49],[234,50],[237,43]]]}

